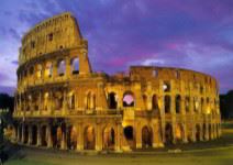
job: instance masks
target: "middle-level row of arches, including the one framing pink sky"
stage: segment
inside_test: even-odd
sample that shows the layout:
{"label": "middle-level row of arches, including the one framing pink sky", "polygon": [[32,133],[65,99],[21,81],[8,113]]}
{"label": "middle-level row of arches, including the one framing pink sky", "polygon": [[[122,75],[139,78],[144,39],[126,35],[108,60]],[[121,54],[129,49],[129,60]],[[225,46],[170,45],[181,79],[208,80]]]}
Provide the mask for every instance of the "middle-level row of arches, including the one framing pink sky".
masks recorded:
{"label": "middle-level row of arches, including the one framing pink sky", "polygon": [[[45,91],[42,96],[34,94],[26,94],[23,95],[24,97],[16,97],[18,105],[21,102],[24,103],[25,110],[30,110],[30,108],[33,108],[35,110],[37,109],[48,109],[49,108],[54,110],[59,110],[63,108],[64,103],[67,105],[68,109],[75,109],[77,107],[78,101],[77,94],[75,91],[69,91],[68,94],[64,92],[63,90],[54,90],[54,91]],[[41,97],[41,98],[40,98]],[[190,97],[184,97],[181,98],[180,95],[176,95],[173,99],[171,96],[165,95],[164,97],[164,111],[165,113],[171,112],[171,103],[174,101],[175,105],[175,112],[181,113],[181,111],[190,112],[190,109],[193,109],[195,112],[202,112],[202,113],[213,113],[218,114],[218,107],[211,106],[211,102],[209,99],[204,101],[206,99],[190,99]],[[193,100],[193,103],[191,101]],[[88,91],[85,95],[85,109],[96,109],[97,107],[97,96],[95,91]],[[135,107],[136,99],[135,95],[132,91],[125,91],[123,94],[123,98],[119,98],[116,92],[109,92],[107,94],[107,101],[108,101],[108,108],[111,110],[119,109],[119,108],[129,108],[129,107]],[[142,96],[142,109],[143,110],[160,110],[160,105],[157,95],[153,95],[152,97],[148,97],[146,95]],[[40,108],[38,106],[43,105],[43,108]],[[193,108],[191,108],[193,107]]]}

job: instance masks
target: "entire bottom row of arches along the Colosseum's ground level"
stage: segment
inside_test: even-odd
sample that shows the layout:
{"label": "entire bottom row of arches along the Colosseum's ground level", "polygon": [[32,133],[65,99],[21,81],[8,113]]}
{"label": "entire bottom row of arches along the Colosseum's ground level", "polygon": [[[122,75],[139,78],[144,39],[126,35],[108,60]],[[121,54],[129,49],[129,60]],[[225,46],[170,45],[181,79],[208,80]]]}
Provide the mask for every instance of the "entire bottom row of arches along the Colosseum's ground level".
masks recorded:
{"label": "entire bottom row of arches along the Colosseum's ground level", "polygon": [[[136,148],[136,139],[138,138],[136,133],[140,133],[142,148],[151,148],[153,147],[155,136],[163,139],[165,145],[215,139],[220,133],[220,124],[195,124],[191,130],[187,130],[181,123],[175,125],[166,123],[164,131],[162,128],[157,128],[156,133],[154,131],[155,128],[152,128],[151,125],[144,125],[141,130],[133,125],[126,125],[123,128],[123,136],[125,138],[127,145],[134,150]],[[78,144],[81,143],[84,150],[96,150],[97,128],[92,125],[85,127],[81,133],[82,142],[80,142],[80,139],[78,138],[80,133],[81,132],[78,131],[75,125],[66,127],[65,124],[56,124],[53,127],[42,125],[40,128],[36,125],[20,125],[16,132],[18,140],[25,144],[78,150]],[[114,127],[104,127],[101,131],[101,150],[115,150],[118,135],[119,133],[116,133]]]}

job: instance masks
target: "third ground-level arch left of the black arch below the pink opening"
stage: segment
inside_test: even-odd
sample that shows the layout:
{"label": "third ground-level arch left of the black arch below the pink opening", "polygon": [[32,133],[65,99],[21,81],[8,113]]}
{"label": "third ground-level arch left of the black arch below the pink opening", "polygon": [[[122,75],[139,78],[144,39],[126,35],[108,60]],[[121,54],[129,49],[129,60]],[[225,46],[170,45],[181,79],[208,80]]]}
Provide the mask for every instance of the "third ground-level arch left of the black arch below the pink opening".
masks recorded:
{"label": "third ground-level arch left of the black arch below the pink opening", "polygon": [[68,134],[67,134],[67,147],[68,147],[68,150],[76,150],[77,138],[78,138],[77,129],[73,125],[69,127],[68,128]]}

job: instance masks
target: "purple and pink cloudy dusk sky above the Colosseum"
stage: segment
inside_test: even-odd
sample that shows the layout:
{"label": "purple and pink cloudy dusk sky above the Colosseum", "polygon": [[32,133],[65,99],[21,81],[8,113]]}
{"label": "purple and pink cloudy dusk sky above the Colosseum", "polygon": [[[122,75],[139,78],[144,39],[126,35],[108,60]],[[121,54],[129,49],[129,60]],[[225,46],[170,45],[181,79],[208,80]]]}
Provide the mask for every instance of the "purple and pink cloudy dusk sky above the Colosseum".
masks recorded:
{"label": "purple and pink cloudy dusk sky above the Colosseum", "polygon": [[184,67],[233,89],[233,0],[1,0],[0,92],[15,89],[22,35],[64,11],[78,19],[97,72]]}

